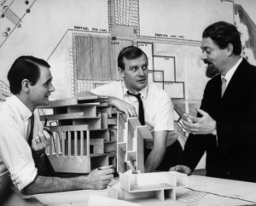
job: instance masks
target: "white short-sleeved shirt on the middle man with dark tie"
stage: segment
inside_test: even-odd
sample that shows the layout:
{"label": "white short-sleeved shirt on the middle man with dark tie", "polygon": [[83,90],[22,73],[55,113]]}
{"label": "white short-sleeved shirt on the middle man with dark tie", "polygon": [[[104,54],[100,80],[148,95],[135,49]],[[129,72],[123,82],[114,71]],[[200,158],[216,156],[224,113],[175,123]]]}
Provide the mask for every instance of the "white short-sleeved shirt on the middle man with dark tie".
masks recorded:
{"label": "white short-sleeved shirt on the middle man with dark tie", "polygon": [[[97,95],[113,96],[135,106],[138,114],[138,100],[127,94],[128,89],[123,81],[105,84],[90,92]],[[173,104],[165,90],[160,89],[154,83],[139,91],[143,101],[145,123],[151,132],[174,130]]]}

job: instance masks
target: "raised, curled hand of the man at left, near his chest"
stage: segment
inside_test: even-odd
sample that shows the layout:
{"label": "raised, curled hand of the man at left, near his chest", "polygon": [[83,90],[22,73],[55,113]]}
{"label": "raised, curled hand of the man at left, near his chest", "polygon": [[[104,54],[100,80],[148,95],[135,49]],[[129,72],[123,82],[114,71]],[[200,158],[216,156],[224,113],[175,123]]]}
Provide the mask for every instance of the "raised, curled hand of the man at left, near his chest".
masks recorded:
{"label": "raised, curled hand of the man at left, near his chest", "polygon": [[49,146],[50,142],[50,134],[47,130],[43,130],[42,132],[38,132],[38,135],[32,140],[32,150],[39,151],[45,149]]}

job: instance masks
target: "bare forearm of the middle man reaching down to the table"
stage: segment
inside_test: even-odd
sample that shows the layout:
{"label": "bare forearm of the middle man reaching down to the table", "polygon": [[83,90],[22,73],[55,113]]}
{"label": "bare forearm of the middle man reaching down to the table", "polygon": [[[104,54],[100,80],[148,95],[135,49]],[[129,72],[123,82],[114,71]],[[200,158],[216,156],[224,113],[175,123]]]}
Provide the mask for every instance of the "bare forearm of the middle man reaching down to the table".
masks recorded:
{"label": "bare forearm of the middle man reaching down to the table", "polygon": [[166,153],[166,146],[162,146],[159,148],[153,147],[145,163],[145,172],[152,172],[154,171],[154,169],[157,169],[157,167],[162,162],[165,156],[165,153]]}

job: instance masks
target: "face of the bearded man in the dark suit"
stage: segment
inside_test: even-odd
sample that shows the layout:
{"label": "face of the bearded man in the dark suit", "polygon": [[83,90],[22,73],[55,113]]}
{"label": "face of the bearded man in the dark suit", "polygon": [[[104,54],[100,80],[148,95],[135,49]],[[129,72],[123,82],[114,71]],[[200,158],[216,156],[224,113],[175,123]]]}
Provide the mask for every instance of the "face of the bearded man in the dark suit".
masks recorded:
{"label": "face of the bearded man in the dark suit", "polygon": [[201,60],[209,67],[215,67],[218,72],[225,72],[226,60],[228,58],[227,49],[219,49],[218,45],[210,37],[203,38],[201,43]]}

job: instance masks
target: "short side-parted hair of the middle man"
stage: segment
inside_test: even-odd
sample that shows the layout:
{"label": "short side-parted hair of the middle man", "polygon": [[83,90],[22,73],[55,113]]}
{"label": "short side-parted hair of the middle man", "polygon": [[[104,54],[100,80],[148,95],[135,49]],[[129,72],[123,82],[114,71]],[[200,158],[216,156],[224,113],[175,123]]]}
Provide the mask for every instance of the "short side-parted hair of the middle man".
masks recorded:
{"label": "short side-parted hair of the middle man", "polygon": [[139,49],[135,46],[125,47],[119,53],[119,57],[118,57],[119,68],[121,68],[121,70],[125,70],[124,58],[127,60],[134,60],[140,57],[142,54],[144,54],[147,57],[147,55],[143,52],[142,49]]}

